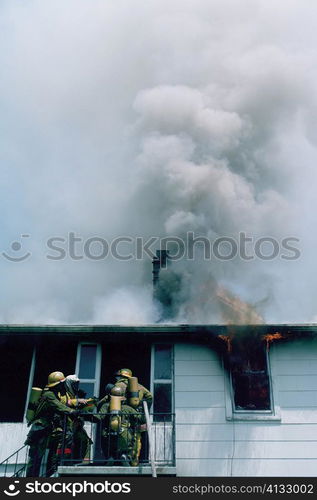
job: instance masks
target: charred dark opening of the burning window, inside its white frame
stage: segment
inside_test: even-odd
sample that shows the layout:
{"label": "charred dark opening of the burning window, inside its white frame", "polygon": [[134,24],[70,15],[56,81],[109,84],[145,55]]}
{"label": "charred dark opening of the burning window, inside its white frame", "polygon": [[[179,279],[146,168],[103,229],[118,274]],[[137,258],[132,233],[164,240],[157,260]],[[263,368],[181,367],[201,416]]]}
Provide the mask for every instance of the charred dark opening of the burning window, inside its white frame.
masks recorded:
{"label": "charred dark opening of the burning window, inside its white frame", "polygon": [[232,342],[229,355],[234,411],[271,411],[267,350],[262,342]]}

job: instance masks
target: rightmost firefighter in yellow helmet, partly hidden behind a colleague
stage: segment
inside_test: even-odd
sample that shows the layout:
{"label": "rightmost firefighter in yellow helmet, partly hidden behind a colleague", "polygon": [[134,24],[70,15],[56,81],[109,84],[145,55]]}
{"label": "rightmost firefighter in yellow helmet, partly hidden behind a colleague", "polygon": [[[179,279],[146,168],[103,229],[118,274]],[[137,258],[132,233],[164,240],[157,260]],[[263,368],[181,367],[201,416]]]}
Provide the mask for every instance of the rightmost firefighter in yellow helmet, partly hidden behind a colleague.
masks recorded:
{"label": "rightmost firefighter in yellow helmet, partly hidden behind a colleague", "polygon": [[[137,382],[136,377],[132,376],[132,371],[129,368],[121,368],[118,371],[118,374],[120,378],[116,382],[115,387],[120,387],[124,391],[124,395],[128,395],[129,390],[131,391],[131,386],[134,386],[134,388],[132,389],[133,392],[131,393],[132,397],[127,398],[128,404],[132,405],[132,407],[140,414],[139,426],[135,429],[134,433],[134,446],[131,459],[131,465],[133,467],[137,467],[139,465],[140,453],[142,448],[142,432],[145,432],[146,430],[143,400],[146,401],[148,408],[150,409],[153,401],[153,396],[152,393],[148,389],[146,389],[146,387]],[[136,379],[133,381],[133,384],[131,384],[132,379]]]}

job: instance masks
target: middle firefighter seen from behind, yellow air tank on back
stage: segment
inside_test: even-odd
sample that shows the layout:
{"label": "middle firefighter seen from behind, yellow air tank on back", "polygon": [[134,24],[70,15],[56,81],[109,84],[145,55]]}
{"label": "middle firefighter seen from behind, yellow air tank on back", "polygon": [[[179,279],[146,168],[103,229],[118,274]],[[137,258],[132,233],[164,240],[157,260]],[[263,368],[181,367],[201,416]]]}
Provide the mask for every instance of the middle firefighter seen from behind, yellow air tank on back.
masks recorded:
{"label": "middle firefighter seen from behind, yellow air tank on back", "polygon": [[129,465],[140,414],[126,404],[123,389],[113,387],[99,407],[102,419],[101,447],[109,465]]}

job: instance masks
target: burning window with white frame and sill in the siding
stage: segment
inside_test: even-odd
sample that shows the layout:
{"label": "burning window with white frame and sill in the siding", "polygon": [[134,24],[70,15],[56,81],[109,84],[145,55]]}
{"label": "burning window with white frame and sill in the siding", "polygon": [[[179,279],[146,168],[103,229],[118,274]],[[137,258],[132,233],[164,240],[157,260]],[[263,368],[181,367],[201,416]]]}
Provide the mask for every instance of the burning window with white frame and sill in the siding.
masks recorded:
{"label": "burning window with white frame and sill in the siding", "polygon": [[274,408],[269,357],[264,342],[236,340],[228,353],[230,407],[227,418],[265,420],[278,418]]}

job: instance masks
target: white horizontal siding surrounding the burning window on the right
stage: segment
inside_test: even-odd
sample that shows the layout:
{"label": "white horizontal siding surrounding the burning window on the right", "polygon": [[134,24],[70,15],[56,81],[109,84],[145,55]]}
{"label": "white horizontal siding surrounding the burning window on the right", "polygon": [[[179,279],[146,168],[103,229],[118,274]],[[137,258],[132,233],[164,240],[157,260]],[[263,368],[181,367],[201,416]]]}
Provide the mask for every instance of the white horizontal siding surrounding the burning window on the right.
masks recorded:
{"label": "white horizontal siding surrounding the burning window on the right", "polygon": [[179,476],[316,476],[317,340],[272,345],[280,421],[226,420],[226,379],[217,354],[175,346]]}

